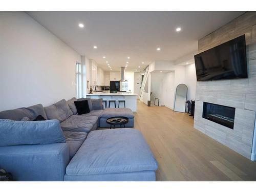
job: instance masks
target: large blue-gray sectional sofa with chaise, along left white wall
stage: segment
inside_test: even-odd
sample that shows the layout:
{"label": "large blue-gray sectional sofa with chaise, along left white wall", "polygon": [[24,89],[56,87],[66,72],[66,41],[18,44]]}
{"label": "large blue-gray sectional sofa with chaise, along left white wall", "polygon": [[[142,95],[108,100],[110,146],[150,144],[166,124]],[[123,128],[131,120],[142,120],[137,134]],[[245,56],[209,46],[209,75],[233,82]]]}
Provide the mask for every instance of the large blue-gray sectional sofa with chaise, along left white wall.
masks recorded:
{"label": "large blue-gray sectional sofa with chaise, along left white wall", "polygon": [[[77,115],[76,100],[0,112],[0,168],[18,181],[155,181],[158,165],[138,130],[96,130],[116,114],[133,127],[132,112],[90,100],[91,112]],[[26,121],[38,115],[47,120]]]}

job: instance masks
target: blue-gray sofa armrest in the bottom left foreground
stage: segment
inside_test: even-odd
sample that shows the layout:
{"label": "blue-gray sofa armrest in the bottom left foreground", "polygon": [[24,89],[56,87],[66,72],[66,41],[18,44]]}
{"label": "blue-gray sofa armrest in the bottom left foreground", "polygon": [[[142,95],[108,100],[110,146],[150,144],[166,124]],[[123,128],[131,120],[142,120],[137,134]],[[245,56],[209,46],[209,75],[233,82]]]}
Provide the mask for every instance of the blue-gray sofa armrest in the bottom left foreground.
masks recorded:
{"label": "blue-gray sofa armrest in the bottom left foreground", "polygon": [[69,160],[67,143],[0,147],[0,168],[16,181],[63,181]]}

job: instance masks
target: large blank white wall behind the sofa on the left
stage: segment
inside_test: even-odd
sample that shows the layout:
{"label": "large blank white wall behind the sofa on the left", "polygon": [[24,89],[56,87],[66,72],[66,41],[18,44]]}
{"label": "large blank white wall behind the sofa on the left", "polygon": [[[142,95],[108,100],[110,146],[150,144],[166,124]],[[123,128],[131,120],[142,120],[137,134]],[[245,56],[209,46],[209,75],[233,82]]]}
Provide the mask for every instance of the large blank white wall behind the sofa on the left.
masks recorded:
{"label": "large blank white wall behind the sofa on the left", "polygon": [[0,111],[76,96],[81,56],[24,12],[0,12]]}

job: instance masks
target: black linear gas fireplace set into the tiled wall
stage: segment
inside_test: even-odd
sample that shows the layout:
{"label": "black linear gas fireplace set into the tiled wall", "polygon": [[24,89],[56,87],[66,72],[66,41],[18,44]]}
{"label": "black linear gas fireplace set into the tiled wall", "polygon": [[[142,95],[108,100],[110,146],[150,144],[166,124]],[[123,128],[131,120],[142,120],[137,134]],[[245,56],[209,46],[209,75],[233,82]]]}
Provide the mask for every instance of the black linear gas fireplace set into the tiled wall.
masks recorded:
{"label": "black linear gas fireplace set into the tiled wall", "polygon": [[214,121],[230,129],[234,129],[234,113],[236,108],[204,102],[203,118]]}

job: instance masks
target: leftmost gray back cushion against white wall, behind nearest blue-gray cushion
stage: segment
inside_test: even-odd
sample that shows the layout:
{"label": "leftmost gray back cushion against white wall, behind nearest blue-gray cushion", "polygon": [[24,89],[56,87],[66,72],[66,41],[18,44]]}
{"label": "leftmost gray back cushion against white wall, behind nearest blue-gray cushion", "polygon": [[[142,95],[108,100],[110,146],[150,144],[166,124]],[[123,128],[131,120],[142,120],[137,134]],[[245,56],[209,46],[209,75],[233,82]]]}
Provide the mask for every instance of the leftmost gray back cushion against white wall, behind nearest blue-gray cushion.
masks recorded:
{"label": "leftmost gray back cushion against white wall, behind nearest blue-gray cushion", "polygon": [[2,111],[0,112],[0,119],[11,119],[11,120],[19,121],[23,117],[34,119],[38,115],[41,115],[45,119],[47,119],[46,113],[42,104],[36,104],[33,106],[29,106],[28,108],[18,108],[14,110]]}

